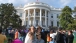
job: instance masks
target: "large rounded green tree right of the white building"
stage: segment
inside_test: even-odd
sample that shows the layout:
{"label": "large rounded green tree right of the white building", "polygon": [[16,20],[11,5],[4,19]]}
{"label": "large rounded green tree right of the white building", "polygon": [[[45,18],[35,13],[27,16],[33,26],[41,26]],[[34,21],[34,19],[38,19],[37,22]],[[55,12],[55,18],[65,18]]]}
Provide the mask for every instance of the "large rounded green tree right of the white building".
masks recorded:
{"label": "large rounded green tree right of the white building", "polygon": [[62,28],[67,29],[69,24],[72,24],[72,9],[69,6],[65,6],[62,9],[62,13],[59,16],[60,25]]}

